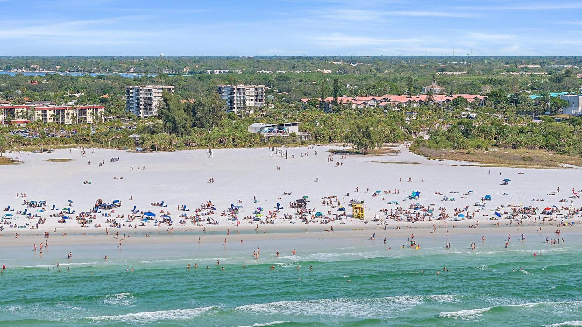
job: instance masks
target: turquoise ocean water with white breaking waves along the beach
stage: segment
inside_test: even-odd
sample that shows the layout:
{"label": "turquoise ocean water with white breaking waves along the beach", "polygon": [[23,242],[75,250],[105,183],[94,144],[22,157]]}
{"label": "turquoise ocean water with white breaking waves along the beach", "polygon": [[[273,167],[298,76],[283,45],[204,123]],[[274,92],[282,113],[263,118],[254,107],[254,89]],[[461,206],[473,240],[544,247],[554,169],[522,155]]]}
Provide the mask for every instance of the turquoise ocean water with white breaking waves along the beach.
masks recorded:
{"label": "turquoise ocean water with white breaking waves along the beach", "polygon": [[[121,250],[112,240],[100,246],[54,245],[42,259],[31,244],[2,247],[0,261],[8,269],[0,276],[0,325],[582,325],[579,233],[565,232],[560,236],[565,246],[549,246],[546,234],[530,234],[521,242],[516,230],[508,248],[506,236],[487,236],[481,244],[480,236],[447,239],[437,233],[417,237],[421,250],[400,248],[405,237],[389,237],[384,246],[382,232],[375,241],[362,234],[357,240],[305,237],[244,244],[231,236],[227,246],[198,244],[193,236],[191,243],[132,246],[128,241]],[[444,247],[447,240],[450,250]],[[471,251],[470,243],[477,243],[477,250]],[[254,260],[257,247],[261,257]],[[296,256],[290,255],[293,248]],[[543,255],[534,258],[534,251]],[[187,263],[198,268],[187,270]],[[442,272],[445,266],[451,271]],[[134,271],[126,272],[131,267]]]}

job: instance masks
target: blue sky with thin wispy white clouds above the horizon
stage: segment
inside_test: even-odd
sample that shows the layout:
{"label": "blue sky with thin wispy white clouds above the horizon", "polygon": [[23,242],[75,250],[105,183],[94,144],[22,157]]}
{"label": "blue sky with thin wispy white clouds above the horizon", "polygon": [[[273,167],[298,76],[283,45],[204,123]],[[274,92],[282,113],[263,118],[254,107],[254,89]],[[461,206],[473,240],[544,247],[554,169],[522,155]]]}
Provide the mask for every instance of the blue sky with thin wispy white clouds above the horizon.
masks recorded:
{"label": "blue sky with thin wispy white clouds above the horizon", "polygon": [[582,1],[0,0],[0,55],[582,55]]}

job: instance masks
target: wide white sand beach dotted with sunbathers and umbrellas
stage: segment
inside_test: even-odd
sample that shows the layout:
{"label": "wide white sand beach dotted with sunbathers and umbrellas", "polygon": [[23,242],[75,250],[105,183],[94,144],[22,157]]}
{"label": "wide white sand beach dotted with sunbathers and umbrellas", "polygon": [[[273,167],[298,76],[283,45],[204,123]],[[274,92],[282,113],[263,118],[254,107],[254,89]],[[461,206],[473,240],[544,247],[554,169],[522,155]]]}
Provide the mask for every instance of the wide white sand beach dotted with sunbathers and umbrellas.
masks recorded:
{"label": "wide white sand beach dotted with sunbathers and umbrellas", "polygon": [[[580,209],[582,201],[571,198],[573,189],[576,192],[582,189],[577,182],[582,177],[582,170],[577,168],[488,168],[463,162],[433,161],[411,154],[403,145],[396,147],[396,150],[400,150],[397,154],[347,155],[342,159],[340,154],[329,157],[329,148],[288,148],[285,149],[289,153],[288,159],[276,156],[268,148],[218,149],[213,150],[212,158],[205,150],[134,153],[88,148],[86,157],[83,157],[80,149],[56,150],[50,154],[5,154],[23,163],[0,166],[0,209],[8,206],[14,209],[1,212],[0,216],[12,216],[2,218],[0,226],[3,227],[4,236],[45,231],[51,234],[101,233],[105,228],[108,228],[109,233],[115,233],[129,230],[165,231],[168,228],[235,230],[255,229],[257,226],[269,232],[282,228],[325,230],[331,228],[331,225],[336,230],[384,226],[400,226],[404,229],[405,226],[432,228],[433,223],[444,228],[445,222],[447,227],[473,226],[477,222],[480,226],[494,226],[498,222],[501,225],[510,224],[508,214],[514,209],[509,205],[520,206],[517,209],[537,207],[526,215],[514,215],[512,224],[520,222],[519,218],[523,218],[524,224],[530,225],[540,225],[538,219],[542,218],[557,218],[557,221],[545,222],[545,225],[556,225],[562,221],[578,223],[580,220],[574,208]],[[119,161],[111,162],[111,158],[117,157]],[[47,159],[72,160],[49,162]],[[101,166],[100,162],[103,162]],[[276,166],[281,169],[276,169]],[[209,182],[211,178],[214,183]],[[503,179],[510,179],[510,184],[502,185]],[[359,191],[356,191],[356,187]],[[560,191],[556,192],[558,187]],[[378,196],[372,196],[375,191],[380,191]],[[407,196],[413,191],[420,191],[420,196],[416,200],[408,200]],[[442,195],[434,194],[435,191]],[[26,198],[22,198],[21,193],[26,193]],[[490,195],[491,200],[484,201],[485,207],[475,212],[475,203],[482,202],[481,198],[485,195]],[[289,207],[290,202],[303,196],[308,197],[307,209],[311,209],[306,214],[308,223],[300,220],[296,208]],[[324,197],[337,198],[332,199],[332,205],[324,205]],[[443,197],[455,198],[455,201],[443,201]],[[122,205],[113,208],[114,211],[102,209],[100,213],[91,214],[94,216],[90,218],[91,222],[81,224],[76,219],[77,215],[93,209],[97,199],[102,199],[104,203],[120,200]],[[560,202],[560,199],[566,199],[566,202]],[[24,200],[46,201],[46,205],[29,208],[23,204]],[[68,200],[73,201],[70,207]],[[201,221],[193,221],[193,216],[209,211],[205,209],[196,212],[209,200],[216,208],[212,210],[214,214],[198,216]],[[350,200],[364,202],[365,219],[352,218]],[[162,201],[168,206],[151,206],[153,202]],[[389,204],[391,201],[398,201],[398,204]],[[274,213],[278,203],[283,208],[276,212],[276,218],[269,219],[269,212]],[[410,208],[410,204],[416,203],[420,204],[416,206],[420,209]],[[236,221],[228,220],[229,215],[222,215],[223,212],[229,214],[231,204],[242,206]],[[51,210],[53,205],[59,210]],[[179,211],[178,207],[183,205],[189,207],[190,211]],[[541,214],[544,208],[552,208],[552,205],[556,207],[553,207],[555,209],[551,215]],[[134,206],[139,211],[132,221],[128,217],[132,215]],[[495,210],[502,206],[505,208]],[[258,207],[263,209],[262,216],[255,219],[261,221],[243,219],[246,216],[257,217],[254,212]],[[338,211],[339,207],[345,207],[346,215],[338,216],[344,213]],[[410,213],[398,212],[398,207]],[[441,207],[446,208],[444,212],[448,217],[438,221]],[[46,211],[38,212],[42,208]],[[65,208],[75,212],[63,213]],[[28,218],[17,214],[25,209],[34,216]],[[386,209],[388,214],[392,212],[393,219],[388,219],[390,217],[381,212],[382,209]],[[455,215],[455,209],[459,209],[458,213],[465,218],[473,216],[474,219]],[[162,210],[165,213],[169,211],[172,223],[154,226],[156,219],[162,219]],[[432,216],[430,210],[434,210]],[[155,217],[142,224],[142,212],[147,211],[151,211]],[[321,212],[324,217],[316,218],[316,212]],[[494,212],[499,212],[501,217],[491,221],[489,218],[495,217]],[[110,218],[102,217],[109,213]],[[189,218],[181,217],[181,214]],[[285,214],[291,215],[292,219],[281,219]],[[70,219],[66,219],[66,223],[59,223],[62,215]],[[118,215],[123,215],[123,218],[118,218]],[[372,221],[375,215],[378,215],[380,221]],[[38,229],[34,229],[37,222],[44,218],[44,223],[39,223]],[[208,223],[207,218],[212,218],[218,224]],[[107,222],[108,219],[115,219],[121,226],[114,228],[111,222]],[[180,224],[180,220],[185,222]],[[322,224],[322,221],[329,222]],[[137,228],[134,227],[136,224]]]}

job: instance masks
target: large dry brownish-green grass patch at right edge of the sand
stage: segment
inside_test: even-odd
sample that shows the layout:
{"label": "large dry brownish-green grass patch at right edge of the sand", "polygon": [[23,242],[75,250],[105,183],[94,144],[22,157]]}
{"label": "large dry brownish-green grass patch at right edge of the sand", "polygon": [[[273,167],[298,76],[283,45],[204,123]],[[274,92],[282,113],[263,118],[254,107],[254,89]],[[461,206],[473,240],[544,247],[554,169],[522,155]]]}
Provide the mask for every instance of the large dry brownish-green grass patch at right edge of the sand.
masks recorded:
{"label": "large dry brownish-green grass patch at right edge of the sand", "polygon": [[582,166],[582,158],[580,157],[557,154],[551,151],[525,149],[494,150],[496,151],[453,151],[449,149],[434,150],[427,147],[417,147],[411,149],[411,152],[423,155],[429,159],[468,161],[481,163],[481,165],[485,166],[503,168],[565,168],[560,166],[562,164]]}

